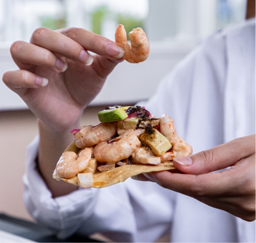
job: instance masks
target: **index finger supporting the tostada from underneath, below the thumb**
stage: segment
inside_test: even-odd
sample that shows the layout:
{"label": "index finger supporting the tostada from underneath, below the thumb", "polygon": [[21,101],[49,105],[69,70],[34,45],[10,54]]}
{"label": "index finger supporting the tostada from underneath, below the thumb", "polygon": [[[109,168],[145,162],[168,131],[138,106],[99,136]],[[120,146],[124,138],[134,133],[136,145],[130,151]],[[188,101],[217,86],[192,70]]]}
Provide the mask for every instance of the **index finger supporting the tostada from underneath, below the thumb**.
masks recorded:
{"label": "index finger supporting the tostada from underneath, below the thumb", "polygon": [[241,172],[241,166],[204,175],[188,175],[161,171],[150,173],[157,184],[187,196],[235,196],[243,193],[246,176]]}

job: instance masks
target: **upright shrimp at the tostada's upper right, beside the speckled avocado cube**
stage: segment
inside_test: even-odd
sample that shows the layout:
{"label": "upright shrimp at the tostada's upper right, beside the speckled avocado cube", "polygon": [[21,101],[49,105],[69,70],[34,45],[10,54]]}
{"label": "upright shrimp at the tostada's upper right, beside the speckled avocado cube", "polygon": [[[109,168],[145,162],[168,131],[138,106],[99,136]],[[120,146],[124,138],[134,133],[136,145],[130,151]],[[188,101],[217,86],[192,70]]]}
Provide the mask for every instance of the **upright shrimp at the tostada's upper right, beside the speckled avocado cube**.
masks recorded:
{"label": "upright shrimp at the tostada's upper right, beside the speckled avocado cube", "polygon": [[175,125],[173,123],[174,121],[166,114],[160,118],[160,132],[169,140],[171,145],[179,143],[179,136],[177,135]]}

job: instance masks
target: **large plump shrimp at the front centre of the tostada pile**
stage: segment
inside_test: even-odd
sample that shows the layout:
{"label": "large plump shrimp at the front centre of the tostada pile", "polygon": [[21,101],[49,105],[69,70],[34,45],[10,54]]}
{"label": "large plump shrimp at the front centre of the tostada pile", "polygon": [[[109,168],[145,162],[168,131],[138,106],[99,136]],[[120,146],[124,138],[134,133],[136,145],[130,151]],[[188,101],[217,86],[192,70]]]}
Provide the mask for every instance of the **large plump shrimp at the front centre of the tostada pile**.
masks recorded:
{"label": "large plump shrimp at the front centre of the tostada pile", "polygon": [[118,142],[103,142],[94,148],[95,159],[99,162],[107,164],[116,163],[122,159],[126,159],[141,146],[140,140],[134,134],[129,134]]}

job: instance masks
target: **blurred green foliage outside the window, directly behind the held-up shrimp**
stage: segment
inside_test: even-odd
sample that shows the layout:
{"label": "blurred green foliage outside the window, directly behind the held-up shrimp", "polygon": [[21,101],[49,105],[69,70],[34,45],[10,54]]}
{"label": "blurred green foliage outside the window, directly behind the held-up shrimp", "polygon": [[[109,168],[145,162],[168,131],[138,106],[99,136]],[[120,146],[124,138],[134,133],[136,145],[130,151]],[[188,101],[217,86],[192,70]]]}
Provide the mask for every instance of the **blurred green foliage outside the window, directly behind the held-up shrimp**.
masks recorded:
{"label": "blurred green foliage outside the window, directly behind the held-up shrimp", "polygon": [[[144,27],[144,20],[138,19],[131,15],[121,15],[120,13],[116,14],[111,12],[107,6],[99,6],[95,8],[92,12],[92,31],[98,35],[102,34],[101,26],[104,19],[108,18],[108,16],[115,17],[117,24],[122,24],[125,27],[127,33],[127,40],[129,40],[128,33],[132,31],[132,29],[137,27]],[[144,29],[144,28],[143,28]]]}

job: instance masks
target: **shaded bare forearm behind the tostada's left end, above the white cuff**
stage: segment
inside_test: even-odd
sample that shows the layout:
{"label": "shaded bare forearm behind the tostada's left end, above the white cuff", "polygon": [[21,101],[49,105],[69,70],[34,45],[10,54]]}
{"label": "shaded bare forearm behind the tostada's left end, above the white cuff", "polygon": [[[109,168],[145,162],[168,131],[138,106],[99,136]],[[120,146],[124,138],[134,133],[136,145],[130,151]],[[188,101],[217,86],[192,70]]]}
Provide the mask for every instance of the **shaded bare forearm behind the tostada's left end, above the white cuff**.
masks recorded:
{"label": "shaded bare forearm behind the tostada's left end, above the white cuff", "polygon": [[[74,127],[79,127],[78,120]],[[75,185],[63,181],[58,182],[52,178],[52,173],[61,157],[61,153],[74,140],[74,137],[69,131],[55,132],[50,130],[40,120],[38,121],[38,128],[40,134],[38,165],[47,187],[52,192],[52,197],[63,196],[75,191],[77,189]]]}

